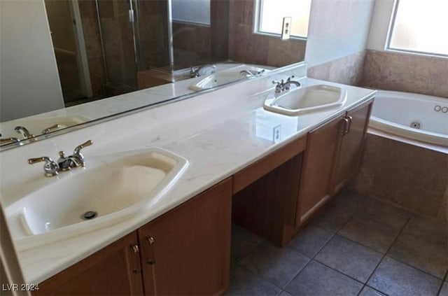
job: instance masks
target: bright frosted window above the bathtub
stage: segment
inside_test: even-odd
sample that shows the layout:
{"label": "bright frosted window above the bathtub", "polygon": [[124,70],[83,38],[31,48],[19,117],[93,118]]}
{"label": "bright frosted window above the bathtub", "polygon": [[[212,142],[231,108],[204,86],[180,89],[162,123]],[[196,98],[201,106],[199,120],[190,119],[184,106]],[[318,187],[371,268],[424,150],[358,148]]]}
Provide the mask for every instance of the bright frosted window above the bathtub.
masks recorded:
{"label": "bright frosted window above the bathtub", "polygon": [[447,0],[395,0],[386,48],[448,57],[447,15]]}

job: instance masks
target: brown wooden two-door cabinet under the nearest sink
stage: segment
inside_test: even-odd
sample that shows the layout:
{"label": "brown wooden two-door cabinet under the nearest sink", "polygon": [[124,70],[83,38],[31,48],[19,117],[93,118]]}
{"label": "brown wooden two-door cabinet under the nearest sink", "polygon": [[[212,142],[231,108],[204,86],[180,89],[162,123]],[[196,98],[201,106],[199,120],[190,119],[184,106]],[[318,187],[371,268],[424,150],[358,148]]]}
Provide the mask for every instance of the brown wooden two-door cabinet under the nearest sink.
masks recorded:
{"label": "brown wooden two-door cabinet under the nearest sink", "polygon": [[39,285],[35,295],[214,295],[228,289],[232,179]]}

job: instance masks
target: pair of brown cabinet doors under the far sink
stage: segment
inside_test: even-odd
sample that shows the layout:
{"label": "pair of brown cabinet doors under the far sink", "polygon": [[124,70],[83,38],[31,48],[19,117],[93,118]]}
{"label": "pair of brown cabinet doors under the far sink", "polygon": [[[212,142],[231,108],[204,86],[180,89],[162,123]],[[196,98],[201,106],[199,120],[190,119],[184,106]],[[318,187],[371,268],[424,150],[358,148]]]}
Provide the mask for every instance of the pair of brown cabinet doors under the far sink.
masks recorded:
{"label": "pair of brown cabinet doors under the far sink", "polygon": [[308,135],[295,225],[308,220],[359,169],[372,100]]}

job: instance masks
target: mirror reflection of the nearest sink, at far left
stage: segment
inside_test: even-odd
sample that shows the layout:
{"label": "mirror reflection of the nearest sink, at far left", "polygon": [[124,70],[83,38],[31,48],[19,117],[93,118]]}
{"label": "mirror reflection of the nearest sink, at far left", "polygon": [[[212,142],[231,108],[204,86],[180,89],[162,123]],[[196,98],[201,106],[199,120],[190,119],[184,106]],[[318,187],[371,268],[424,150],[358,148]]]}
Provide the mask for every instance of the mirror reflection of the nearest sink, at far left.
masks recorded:
{"label": "mirror reflection of the nearest sink, at far left", "polygon": [[[14,132],[17,126],[26,127],[31,134],[37,136],[43,134],[45,129],[52,127],[48,132],[55,132],[59,129],[79,125],[89,121],[90,118],[80,115],[73,116],[31,116],[29,118],[20,118],[20,120],[10,120],[0,123],[0,134],[2,138],[21,138],[20,134]],[[57,125],[57,126],[56,126]]]}

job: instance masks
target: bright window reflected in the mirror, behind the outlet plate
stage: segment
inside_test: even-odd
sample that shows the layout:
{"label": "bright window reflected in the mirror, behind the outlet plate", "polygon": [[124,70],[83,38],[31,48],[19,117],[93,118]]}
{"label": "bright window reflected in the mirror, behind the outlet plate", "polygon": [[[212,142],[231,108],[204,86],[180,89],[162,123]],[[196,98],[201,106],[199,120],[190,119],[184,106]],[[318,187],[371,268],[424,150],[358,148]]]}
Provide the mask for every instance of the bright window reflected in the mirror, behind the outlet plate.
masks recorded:
{"label": "bright window reflected in the mirror, behind the outlet plate", "polygon": [[283,17],[292,17],[293,38],[307,38],[311,0],[255,0],[255,33],[281,34]]}

